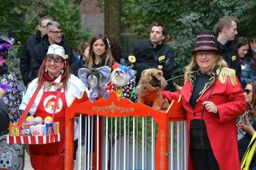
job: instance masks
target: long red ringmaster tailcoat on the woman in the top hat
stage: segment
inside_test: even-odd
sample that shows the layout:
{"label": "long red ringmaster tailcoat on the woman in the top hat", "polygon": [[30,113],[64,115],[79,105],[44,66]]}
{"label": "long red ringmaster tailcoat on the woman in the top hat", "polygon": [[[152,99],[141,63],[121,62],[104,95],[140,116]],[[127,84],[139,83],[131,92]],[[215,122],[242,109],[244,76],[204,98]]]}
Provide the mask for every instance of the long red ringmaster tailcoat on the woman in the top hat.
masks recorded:
{"label": "long red ringmaster tailcoat on the woman in the top hat", "polygon": [[[235,79],[237,82],[236,85],[232,85],[228,77],[224,84],[220,83],[219,79],[216,80],[216,85],[208,100],[216,104],[219,115],[209,113],[204,109],[203,119],[206,124],[210,146],[213,149],[213,154],[216,157],[220,170],[240,170],[235,118],[245,112],[246,104],[239,79],[237,77]],[[204,91],[194,109],[189,106],[189,99],[193,91],[191,82],[185,82],[180,92],[163,92],[163,96],[169,100],[177,99],[179,93],[182,94],[182,106],[187,113],[188,148],[190,148],[189,130],[191,119],[201,119],[202,103],[207,100],[213,84]],[[191,162],[189,149],[188,170],[193,169],[194,166]]]}

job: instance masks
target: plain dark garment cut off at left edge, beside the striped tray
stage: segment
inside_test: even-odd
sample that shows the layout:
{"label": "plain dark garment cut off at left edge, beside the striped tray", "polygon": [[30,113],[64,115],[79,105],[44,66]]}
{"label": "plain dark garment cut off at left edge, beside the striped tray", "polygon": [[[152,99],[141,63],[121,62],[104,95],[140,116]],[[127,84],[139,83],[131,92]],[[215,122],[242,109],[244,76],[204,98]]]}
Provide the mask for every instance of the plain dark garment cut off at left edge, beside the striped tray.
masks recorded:
{"label": "plain dark garment cut off at left edge, beside the striped tray", "polygon": [[0,98],[0,136],[8,131],[9,123],[7,107],[2,98]]}

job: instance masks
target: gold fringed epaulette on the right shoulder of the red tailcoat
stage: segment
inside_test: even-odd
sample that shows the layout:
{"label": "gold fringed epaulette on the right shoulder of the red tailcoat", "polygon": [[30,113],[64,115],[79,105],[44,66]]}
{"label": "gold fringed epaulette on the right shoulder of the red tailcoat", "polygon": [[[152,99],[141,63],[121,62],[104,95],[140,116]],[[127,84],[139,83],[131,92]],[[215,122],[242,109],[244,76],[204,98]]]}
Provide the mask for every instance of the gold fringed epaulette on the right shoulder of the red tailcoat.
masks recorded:
{"label": "gold fringed epaulette on the right shoulder of the red tailcoat", "polygon": [[237,85],[237,82],[235,79],[235,70],[229,69],[227,67],[223,67],[221,69],[221,72],[220,72],[220,69],[217,69],[216,73],[218,75],[220,74],[218,79],[220,80],[221,84],[224,84],[226,82],[226,78],[229,77],[231,84],[233,86]]}

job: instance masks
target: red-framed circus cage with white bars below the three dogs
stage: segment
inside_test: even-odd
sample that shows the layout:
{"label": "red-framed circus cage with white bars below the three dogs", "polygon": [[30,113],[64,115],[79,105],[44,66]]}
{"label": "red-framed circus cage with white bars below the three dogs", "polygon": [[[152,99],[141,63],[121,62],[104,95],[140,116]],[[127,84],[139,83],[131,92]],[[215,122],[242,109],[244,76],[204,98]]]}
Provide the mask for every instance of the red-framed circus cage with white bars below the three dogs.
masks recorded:
{"label": "red-framed circus cage with white bars below the three dogs", "polygon": [[[185,170],[186,127],[181,108],[181,102],[173,100],[169,109],[161,112],[119,100],[115,93],[109,100],[71,106],[66,112],[65,169]],[[73,165],[75,117],[79,138]]]}

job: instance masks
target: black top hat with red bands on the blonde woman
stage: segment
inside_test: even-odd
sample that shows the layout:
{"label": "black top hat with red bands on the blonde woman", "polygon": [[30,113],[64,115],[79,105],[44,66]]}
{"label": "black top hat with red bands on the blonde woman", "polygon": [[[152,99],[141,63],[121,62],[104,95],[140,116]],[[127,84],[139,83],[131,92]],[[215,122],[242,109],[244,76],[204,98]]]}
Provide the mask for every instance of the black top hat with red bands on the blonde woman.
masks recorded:
{"label": "black top hat with red bands on the blonde woman", "polygon": [[198,32],[192,54],[201,51],[213,51],[216,54],[221,54],[221,51],[218,49],[216,42],[217,40],[215,32],[209,30],[200,31]]}

